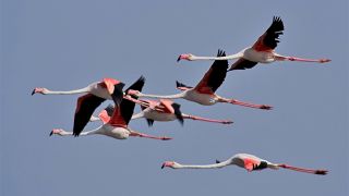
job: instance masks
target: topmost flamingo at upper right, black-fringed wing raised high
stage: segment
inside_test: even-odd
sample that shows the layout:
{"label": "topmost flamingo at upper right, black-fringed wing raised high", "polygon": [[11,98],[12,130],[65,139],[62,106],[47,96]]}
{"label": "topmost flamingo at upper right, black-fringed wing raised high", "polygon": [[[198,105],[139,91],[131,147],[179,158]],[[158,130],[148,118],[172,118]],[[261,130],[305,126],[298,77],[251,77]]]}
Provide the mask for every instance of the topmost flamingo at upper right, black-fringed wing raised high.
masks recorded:
{"label": "topmost flamingo at upper right, black-fringed wing raised high", "polygon": [[275,52],[275,48],[279,42],[279,35],[282,35],[284,23],[280,17],[273,17],[273,23],[269,28],[258,38],[252,46],[240,52],[227,57],[196,57],[192,53],[180,54],[177,62],[180,60],[196,61],[196,60],[230,60],[238,59],[228,71],[245,70],[255,66],[260,63],[272,63],[275,61],[301,61],[301,62],[329,62],[329,59],[302,59],[297,57],[281,56]]}

